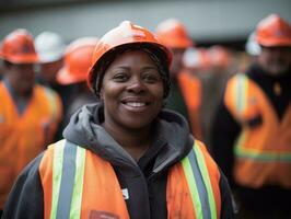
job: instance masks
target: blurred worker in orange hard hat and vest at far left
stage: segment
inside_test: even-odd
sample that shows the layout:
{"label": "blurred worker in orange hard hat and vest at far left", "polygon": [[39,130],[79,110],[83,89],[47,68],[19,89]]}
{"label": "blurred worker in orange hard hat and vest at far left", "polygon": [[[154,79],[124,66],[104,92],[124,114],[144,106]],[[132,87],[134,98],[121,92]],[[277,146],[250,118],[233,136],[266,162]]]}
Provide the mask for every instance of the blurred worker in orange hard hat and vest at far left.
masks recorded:
{"label": "blurred worker in orange hard hat and vest at far left", "polygon": [[61,118],[53,90],[35,84],[39,59],[32,35],[15,30],[1,43],[4,79],[0,82],[0,209],[22,169],[51,142]]}

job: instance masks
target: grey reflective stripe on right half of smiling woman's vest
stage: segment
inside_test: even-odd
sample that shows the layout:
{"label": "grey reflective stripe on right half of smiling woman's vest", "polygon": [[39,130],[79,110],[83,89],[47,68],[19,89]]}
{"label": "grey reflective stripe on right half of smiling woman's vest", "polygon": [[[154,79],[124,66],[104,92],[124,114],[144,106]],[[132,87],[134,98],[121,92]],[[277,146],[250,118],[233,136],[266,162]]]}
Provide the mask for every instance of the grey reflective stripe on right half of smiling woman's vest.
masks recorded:
{"label": "grey reflective stripe on right half of smiling woman's vest", "polygon": [[[195,146],[195,147],[198,147],[198,146]],[[206,185],[202,178],[201,170],[199,169],[194,149],[189,152],[188,159],[190,161],[191,170],[193,170],[195,182],[197,185],[197,191],[199,194],[203,219],[210,219],[211,211],[210,211],[210,206],[209,206],[208,192],[207,192],[207,188],[206,188]]]}

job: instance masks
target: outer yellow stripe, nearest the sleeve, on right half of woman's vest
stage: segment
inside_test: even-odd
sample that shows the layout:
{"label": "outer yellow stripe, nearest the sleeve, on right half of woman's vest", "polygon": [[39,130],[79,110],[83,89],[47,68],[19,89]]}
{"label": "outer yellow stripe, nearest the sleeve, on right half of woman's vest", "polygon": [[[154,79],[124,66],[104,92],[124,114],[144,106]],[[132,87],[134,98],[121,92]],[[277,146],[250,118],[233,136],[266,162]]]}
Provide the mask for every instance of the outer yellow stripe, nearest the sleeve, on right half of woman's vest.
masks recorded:
{"label": "outer yellow stripe, nearest the sleeve, on right half of woman's vest", "polygon": [[214,199],[211,182],[209,178],[209,172],[208,172],[206,161],[205,161],[205,155],[203,155],[203,153],[202,153],[202,151],[198,145],[196,145],[196,147],[194,147],[194,151],[195,151],[195,154],[197,155],[198,165],[199,165],[199,169],[200,169],[200,172],[202,174],[202,178],[203,178],[203,182],[206,185],[211,218],[216,219],[216,218],[218,218],[217,205],[216,205],[216,199]]}

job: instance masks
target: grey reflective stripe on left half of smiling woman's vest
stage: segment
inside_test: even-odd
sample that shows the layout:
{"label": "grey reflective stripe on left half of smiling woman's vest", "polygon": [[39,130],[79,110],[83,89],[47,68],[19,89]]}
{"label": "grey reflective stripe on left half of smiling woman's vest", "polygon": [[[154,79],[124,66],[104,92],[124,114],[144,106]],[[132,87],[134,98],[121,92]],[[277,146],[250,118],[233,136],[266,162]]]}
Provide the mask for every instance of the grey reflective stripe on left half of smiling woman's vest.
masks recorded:
{"label": "grey reflective stripe on left half of smiling woman's vest", "polygon": [[65,142],[62,174],[59,189],[57,219],[70,218],[71,200],[74,186],[77,146]]}

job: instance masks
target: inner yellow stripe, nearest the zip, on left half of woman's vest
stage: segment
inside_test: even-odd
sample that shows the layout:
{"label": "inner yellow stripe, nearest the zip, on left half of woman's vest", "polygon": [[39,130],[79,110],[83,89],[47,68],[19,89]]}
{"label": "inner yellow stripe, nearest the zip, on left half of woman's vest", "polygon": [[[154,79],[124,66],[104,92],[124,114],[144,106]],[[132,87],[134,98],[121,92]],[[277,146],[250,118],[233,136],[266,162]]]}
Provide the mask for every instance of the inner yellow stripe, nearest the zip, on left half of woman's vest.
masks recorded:
{"label": "inner yellow stripe, nearest the zip, on left half of woman's vest", "polygon": [[77,219],[81,217],[83,181],[85,171],[85,149],[78,147],[75,158],[75,175],[74,187],[71,201],[70,218]]}

